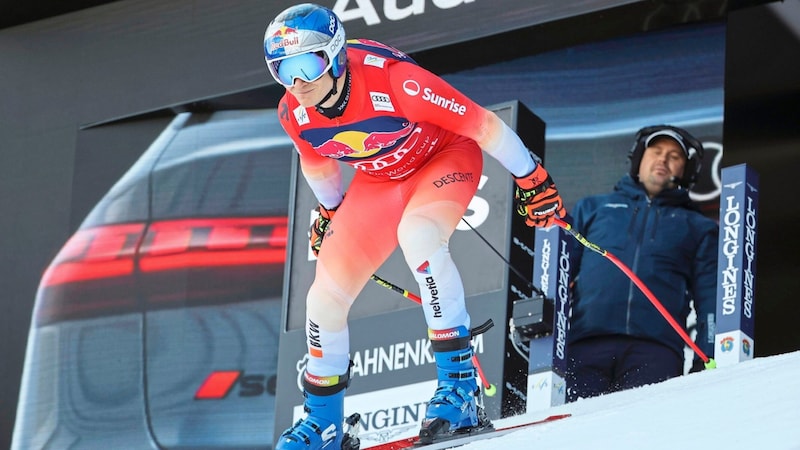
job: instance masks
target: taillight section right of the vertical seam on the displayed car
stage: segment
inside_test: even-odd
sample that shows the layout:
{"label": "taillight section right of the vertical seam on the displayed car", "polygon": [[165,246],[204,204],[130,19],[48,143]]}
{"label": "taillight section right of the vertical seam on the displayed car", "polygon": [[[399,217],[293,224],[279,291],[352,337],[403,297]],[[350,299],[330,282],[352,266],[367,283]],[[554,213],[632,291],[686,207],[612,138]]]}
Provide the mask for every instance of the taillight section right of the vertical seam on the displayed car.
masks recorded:
{"label": "taillight section right of the vertical seam on the displayed car", "polygon": [[280,217],[154,223],[139,261],[147,308],[279,296],[287,222]]}

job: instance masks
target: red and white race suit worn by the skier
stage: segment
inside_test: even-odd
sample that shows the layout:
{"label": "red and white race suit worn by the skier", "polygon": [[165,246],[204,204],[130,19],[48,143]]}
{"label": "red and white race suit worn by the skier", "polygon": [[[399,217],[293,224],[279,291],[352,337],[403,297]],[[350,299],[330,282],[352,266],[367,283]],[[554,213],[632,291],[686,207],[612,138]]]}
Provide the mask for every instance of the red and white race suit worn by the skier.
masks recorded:
{"label": "red and white race suit worn by the skier", "polygon": [[[469,327],[447,243],[478,188],[481,147],[513,162],[515,176],[530,174],[536,162],[493,112],[398,50],[350,41],[347,60],[350,98],[340,117],[303,107],[291,92],[279,106],[303,175],[322,206],[336,211],[319,251],[308,318],[323,330],[344,329],[350,305],[399,241],[421,281],[423,305],[431,300],[425,278],[437,275],[440,308],[425,308],[429,327]],[[344,202],[337,161],[357,169]],[[342,359],[348,354],[332,350]]]}

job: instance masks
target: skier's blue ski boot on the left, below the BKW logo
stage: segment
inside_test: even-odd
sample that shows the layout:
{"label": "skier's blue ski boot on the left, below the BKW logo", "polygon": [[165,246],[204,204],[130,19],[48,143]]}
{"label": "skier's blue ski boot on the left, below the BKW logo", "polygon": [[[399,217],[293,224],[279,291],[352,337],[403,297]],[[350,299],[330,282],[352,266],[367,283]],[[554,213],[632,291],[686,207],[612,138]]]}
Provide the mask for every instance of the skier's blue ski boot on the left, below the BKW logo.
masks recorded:
{"label": "skier's blue ski boot on the left, below the BKW logo", "polygon": [[[281,434],[275,450],[357,449],[358,439],[352,442],[351,436],[343,430],[344,394],[349,384],[349,373],[316,377],[306,372],[303,376],[306,417]],[[353,425],[350,420],[348,424]]]}

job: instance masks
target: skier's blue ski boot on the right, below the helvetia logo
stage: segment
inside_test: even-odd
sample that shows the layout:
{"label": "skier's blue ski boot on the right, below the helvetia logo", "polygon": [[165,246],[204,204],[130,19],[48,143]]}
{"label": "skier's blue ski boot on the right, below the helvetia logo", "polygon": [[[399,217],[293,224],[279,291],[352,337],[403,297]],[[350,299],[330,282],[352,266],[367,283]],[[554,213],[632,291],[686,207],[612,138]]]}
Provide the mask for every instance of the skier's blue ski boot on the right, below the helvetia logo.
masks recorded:
{"label": "skier's blue ski boot on the right, below the helvetia logo", "polygon": [[478,405],[480,391],[472,364],[471,333],[466,327],[428,330],[436,358],[439,385],[428,402],[419,437],[429,444],[438,437],[491,427]]}

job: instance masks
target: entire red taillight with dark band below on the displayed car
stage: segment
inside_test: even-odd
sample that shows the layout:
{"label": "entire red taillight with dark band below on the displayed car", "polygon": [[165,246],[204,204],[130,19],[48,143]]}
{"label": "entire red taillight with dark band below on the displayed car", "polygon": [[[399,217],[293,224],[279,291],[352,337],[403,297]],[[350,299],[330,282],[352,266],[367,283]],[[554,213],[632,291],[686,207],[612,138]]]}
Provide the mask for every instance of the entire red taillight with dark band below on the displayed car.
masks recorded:
{"label": "entire red taillight with dark band below on the displayed car", "polygon": [[79,230],[42,278],[36,323],[274,296],[286,241],[286,217]]}

